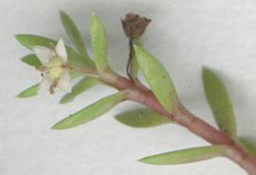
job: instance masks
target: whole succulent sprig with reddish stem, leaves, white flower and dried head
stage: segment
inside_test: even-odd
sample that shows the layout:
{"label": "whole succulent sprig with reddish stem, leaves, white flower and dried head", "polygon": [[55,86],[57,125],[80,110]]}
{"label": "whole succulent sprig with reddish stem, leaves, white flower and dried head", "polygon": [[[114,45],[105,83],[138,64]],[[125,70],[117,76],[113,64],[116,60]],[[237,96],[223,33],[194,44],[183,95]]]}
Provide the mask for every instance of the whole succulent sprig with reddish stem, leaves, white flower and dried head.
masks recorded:
{"label": "whole succulent sprig with reddish stem, leaves, white flower and dried head", "polygon": [[[64,29],[75,48],[65,45],[63,40],[56,40],[31,34],[16,35],[17,41],[32,51],[22,61],[41,71],[43,81],[21,92],[18,97],[36,96],[45,81],[49,92],[60,88],[68,93],[61,103],[72,101],[89,88],[98,84],[118,90],[111,96],[70,114],[53,125],[54,130],[71,129],[92,121],[125,100],[136,101],[146,108],[118,114],[116,119],[125,125],[136,128],[149,128],[163,124],[181,125],[202,137],[210,145],[199,148],[179,149],[139,159],[151,165],[175,165],[211,159],[217,156],[227,157],[248,174],[256,175],[256,147],[253,143],[237,135],[235,114],[225,84],[218,74],[210,68],[202,68],[205,93],[214,115],[218,129],[195,116],[179,100],[174,82],[168,71],[156,57],[140,43],[141,35],[151,22],[136,13],[128,13],[122,26],[129,41],[129,61],[127,77],[120,76],[108,64],[108,48],[105,27],[101,18],[92,13],[91,44],[93,59],[87,54],[86,46],[78,27],[67,13],[61,11]],[[42,58],[46,58],[45,61]],[[141,71],[149,86],[137,77]],[[82,77],[71,90],[69,81]],[[64,78],[63,81],[62,79]]]}

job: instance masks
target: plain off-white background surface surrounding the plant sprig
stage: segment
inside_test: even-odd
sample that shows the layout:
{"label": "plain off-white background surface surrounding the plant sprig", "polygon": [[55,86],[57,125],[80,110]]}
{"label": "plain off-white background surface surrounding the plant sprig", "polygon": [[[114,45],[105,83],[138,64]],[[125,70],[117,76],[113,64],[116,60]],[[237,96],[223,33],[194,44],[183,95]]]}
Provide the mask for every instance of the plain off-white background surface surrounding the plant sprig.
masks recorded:
{"label": "plain off-white background surface surrounding the plant sprig", "polygon": [[136,160],[159,152],[204,146],[187,130],[166,125],[138,130],[121,125],[114,114],[135,108],[125,102],[76,129],[50,127],[66,115],[115,90],[98,86],[73,103],[59,105],[63,94],[19,99],[18,92],[40,80],[19,59],[29,51],[13,35],[33,33],[64,38],[59,10],[75,20],[90,49],[90,13],[101,15],[109,42],[110,64],[124,73],[127,40],[120,18],[128,11],[153,22],[144,45],[164,63],[178,94],[194,114],[214,125],[201,82],[201,67],[225,79],[237,114],[240,135],[255,138],[256,2],[254,0],[0,0],[0,174],[2,175],[245,175],[224,158],[182,166],[149,166]]}

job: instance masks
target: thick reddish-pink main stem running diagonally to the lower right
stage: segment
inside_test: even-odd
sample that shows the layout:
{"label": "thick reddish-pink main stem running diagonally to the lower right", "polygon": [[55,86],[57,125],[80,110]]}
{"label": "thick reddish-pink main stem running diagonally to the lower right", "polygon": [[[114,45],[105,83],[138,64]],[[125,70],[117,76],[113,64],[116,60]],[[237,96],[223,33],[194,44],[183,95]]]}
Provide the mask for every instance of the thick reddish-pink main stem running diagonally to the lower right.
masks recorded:
{"label": "thick reddish-pink main stem running diagonally to the lower right", "polygon": [[177,113],[169,114],[156,99],[152,91],[146,87],[139,87],[136,83],[130,79],[120,77],[113,73],[106,74],[104,78],[101,78],[106,84],[120,90],[130,89],[131,93],[128,95],[128,99],[141,103],[149,108],[155,110],[159,114],[163,114],[175,123],[184,126],[189,131],[203,138],[212,145],[225,145],[228,146],[226,156],[242,166],[249,175],[256,175],[256,158],[250,155],[241,144],[235,142],[232,138],[226,135],[223,131],[219,131],[204,120],[191,114],[181,103]]}

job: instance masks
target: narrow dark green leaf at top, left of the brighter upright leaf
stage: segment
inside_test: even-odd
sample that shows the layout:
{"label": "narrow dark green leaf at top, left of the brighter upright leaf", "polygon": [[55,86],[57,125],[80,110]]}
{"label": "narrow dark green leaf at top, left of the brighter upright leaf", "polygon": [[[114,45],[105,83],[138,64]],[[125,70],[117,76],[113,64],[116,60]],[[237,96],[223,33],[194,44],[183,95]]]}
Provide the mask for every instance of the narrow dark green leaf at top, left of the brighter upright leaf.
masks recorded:
{"label": "narrow dark green leaf at top, left of the brighter upright leaf", "polygon": [[82,53],[83,56],[88,58],[88,54],[85,50],[85,44],[83,42],[82,35],[78,27],[75,25],[72,18],[64,11],[61,11],[60,15],[61,15],[61,20],[67,35],[72,40],[72,42],[76,45],[79,52]]}

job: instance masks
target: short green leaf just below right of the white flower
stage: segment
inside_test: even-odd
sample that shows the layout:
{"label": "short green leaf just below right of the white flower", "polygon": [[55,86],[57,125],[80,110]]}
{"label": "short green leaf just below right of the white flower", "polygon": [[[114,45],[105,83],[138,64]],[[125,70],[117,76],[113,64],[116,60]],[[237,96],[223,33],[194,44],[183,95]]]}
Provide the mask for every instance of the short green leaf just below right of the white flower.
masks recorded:
{"label": "short green leaf just below right of the white flower", "polygon": [[84,91],[90,89],[91,87],[101,83],[99,79],[96,78],[84,78],[80,82],[78,82],[73,88],[72,92],[66,94],[60,101],[60,103],[64,104],[72,101],[76,96],[79,96]]}

